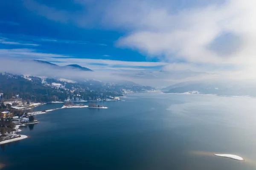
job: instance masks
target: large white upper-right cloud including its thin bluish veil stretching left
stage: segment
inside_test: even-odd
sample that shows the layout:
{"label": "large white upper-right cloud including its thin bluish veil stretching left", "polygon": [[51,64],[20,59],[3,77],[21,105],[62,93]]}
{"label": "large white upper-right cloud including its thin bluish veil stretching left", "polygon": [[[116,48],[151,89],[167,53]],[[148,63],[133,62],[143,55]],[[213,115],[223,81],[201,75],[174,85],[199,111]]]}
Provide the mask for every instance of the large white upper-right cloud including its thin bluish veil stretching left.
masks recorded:
{"label": "large white upper-right cloud including its thin bluish veil stretching left", "polygon": [[171,68],[176,64],[175,69],[218,72],[228,78],[235,78],[236,72],[243,77],[256,71],[255,0],[76,0],[81,10],[73,12],[32,0],[24,2],[49,20],[122,30],[125,34],[117,46],[157,56],[171,63]]}

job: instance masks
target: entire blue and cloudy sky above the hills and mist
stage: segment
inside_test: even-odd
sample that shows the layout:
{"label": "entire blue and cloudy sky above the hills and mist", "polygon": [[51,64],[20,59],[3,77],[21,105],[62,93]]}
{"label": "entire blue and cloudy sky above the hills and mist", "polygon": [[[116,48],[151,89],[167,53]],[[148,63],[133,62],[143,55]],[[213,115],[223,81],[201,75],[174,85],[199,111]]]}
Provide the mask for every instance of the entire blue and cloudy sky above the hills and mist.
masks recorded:
{"label": "entire blue and cloudy sky above the hills and mist", "polygon": [[0,58],[17,63],[13,72],[36,59],[154,86],[254,81],[254,9],[255,0],[2,0]]}

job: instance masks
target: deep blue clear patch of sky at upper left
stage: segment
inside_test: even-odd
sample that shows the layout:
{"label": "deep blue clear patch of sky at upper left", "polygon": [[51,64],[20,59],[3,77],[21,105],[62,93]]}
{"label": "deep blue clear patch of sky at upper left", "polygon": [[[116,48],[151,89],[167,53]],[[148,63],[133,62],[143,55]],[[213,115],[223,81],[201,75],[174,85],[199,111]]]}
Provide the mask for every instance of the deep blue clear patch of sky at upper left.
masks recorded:
{"label": "deep blue clear patch of sky at upper left", "polygon": [[[116,40],[126,34],[125,30],[97,26],[97,21],[91,23],[92,25],[88,28],[73,23],[52,21],[33,10],[29,10],[29,8],[33,8],[31,6],[37,6],[34,3],[68,12],[81,10],[81,5],[73,3],[71,0],[1,1],[1,49],[35,49],[36,52],[65,55],[70,56],[70,58],[160,61],[156,56],[148,57],[147,54],[137,50],[117,47],[115,45]],[[23,55],[22,57],[26,58],[27,56]],[[34,58],[38,57],[35,56]],[[45,58],[42,60],[47,61]],[[156,67],[155,69],[159,68]]]}

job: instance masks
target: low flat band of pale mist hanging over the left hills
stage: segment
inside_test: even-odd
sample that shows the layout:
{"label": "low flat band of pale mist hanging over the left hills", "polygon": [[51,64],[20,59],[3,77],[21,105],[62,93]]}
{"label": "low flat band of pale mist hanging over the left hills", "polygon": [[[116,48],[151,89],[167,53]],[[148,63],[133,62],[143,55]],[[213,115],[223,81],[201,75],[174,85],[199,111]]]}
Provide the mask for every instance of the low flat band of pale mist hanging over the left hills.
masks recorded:
{"label": "low flat band of pale mist hanging over the left hills", "polygon": [[[194,75],[190,74],[190,76],[188,77],[188,74],[180,75],[179,72],[178,73],[177,72],[159,72],[159,71],[148,72],[145,69],[133,68],[133,67],[131,68],[109,67],[108,69],[104,68],[104,69],[95,70],[95,72],[84,72],[84,71],[78,71],[73,69],[58,69],[58,67],[56,66],[50,66],[50,65],[48,66],[46,64],[37,63],[32,60],[24,60],[23,58],[0,58],[0,59],[1,59],[1,62],[5,63],[0,67],[0,72],[10,72],[17,75],[66,78],[68,80],[73,80],[73,81],[84,81],[87,79],[94,79],[94,80],[96,79],[103,82],[133,81],[135,83],[142,84],[142,85],[168,86],[170,84],[179,82],[181,77],[183,77],[183,79],[186,79],[186,78],[192,78],[199,75],[199,73]],[[129,64],[124,62],[123,65],[129,65]],[[145,66],[145,63],[143,63],[143,65]],[[89,66],[92,66],[92,67],[89,67]],[[100,67],[97,65],[88,65],[87,67],[90,69],[94,69],[93,66],[95,68]],[[105,67],[108,67],[108,66],[105,66]],[[189,80],[189,79],[186,79],[186,80]]]}

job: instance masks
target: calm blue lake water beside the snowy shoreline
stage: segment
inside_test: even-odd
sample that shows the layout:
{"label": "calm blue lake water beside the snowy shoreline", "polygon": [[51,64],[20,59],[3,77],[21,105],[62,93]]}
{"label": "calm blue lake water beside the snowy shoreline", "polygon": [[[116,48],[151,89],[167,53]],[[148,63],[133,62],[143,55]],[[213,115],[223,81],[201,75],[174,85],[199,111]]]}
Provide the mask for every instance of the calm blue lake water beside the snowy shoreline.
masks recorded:
{"label": "calm blue lake water beside the snowy shoreline", "polygon": [[124,100],[37,115],[40,123],[20,132],[29,138],[1,145],[0,163],[4,170],[255,169],[256,98],[142,93]]}

